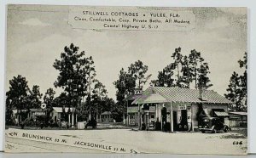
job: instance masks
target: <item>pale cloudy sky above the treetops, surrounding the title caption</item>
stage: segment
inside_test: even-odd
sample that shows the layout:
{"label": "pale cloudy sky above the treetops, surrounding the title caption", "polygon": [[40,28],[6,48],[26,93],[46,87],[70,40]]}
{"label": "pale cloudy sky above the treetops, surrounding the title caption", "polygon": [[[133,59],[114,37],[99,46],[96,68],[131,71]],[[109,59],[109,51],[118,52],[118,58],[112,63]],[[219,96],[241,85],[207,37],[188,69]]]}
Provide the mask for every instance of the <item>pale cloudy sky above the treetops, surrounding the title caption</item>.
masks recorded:
{"label": "pale cloudy sky above the treetops, surrounding the title caption", "polygon": [[[61,59],[65,46],[73,43],[92,56],[96,78],[108,96],[115,99],[113,82],[119,71],[138,59],[148,65],[150,81],[172,62],[175,48],[182,54],[196,49],[208,62],[212,89],[226,93],[233,71],[241,73],[237,61],[247,52],[246,8],[185,8],[195,14],[192,31],[92,31],[68,24],[67,6],[10,6],[8,11],[6,90],[14,76],[26,76],[29,87],[38,85],[45,93],[57,79],[52,66]],[[148,82],[149,83],[149,82]],[[149,84],[144,88],[147,88]],[[63,90],[55,89],[57,94]]]}

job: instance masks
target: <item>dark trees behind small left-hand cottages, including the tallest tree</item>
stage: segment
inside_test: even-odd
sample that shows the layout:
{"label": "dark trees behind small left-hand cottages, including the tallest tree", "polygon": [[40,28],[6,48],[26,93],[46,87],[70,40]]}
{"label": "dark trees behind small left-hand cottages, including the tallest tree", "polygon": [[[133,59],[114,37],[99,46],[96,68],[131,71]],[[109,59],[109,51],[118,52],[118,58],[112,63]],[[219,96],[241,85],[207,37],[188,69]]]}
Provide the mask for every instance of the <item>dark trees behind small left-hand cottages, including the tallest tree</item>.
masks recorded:
{"label": "dark trees behind small left-hand cottages, including the tallest tree", "polygon": [[[75,107],[78,116],[84,119],[88,116],[96,117],[103,111],[112,111],[113,118],[118,115],[115,110],[115,102],[108,97],[106,87],[96,79],[94,60],[79,47],[73,45],[65,47],[60,59],[55,59],[53,64],[59,71],[54,87],[61,88],[59,96],[55,96],[55,90],[49,87],[46,92],[40,93],[38,85],[28,87],[25,76],[14,76],[9,81],[9,91],[6,93],[6,121],[10,118],[12,110],[16,109],[20,115],[26,115],[26,111],[32,108],[38,109],[41,104],[46,105],[47,116],[53,107]],[[26,110],[26,111],[24,111]],[[49,118],[48,118],[49,119]]]}

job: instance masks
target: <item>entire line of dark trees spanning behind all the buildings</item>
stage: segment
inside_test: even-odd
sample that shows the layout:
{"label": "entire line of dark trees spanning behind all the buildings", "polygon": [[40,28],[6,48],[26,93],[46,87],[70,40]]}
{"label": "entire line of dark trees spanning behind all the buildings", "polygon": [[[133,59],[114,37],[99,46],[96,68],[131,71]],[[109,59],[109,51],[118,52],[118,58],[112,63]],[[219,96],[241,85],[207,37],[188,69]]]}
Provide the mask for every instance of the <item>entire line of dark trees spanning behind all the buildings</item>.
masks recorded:
{"label": "entire line of dark trees spanning behind all the buildings", "polygon": [[[209,65],[195,49],[189,55],[183,55],[181,48],[175,48],[171,55],[172,62],[158,72],[157,79],[151,80],[151,86],[198,88],[212,87],[208,74]],[[246,57],[244,57],[246,58]],[[241,68],[247,68],[247,59],[239,60]],[[79,116],[96,117],[104,111],[111,111],[113,119],[122,121],[126,113],[125,98],[134,94],[134,89],[143,89],[149,82],[148,65],[137,60],[125,70],[121,68],[119,76],[113,82],[116,91],[116,102],[108,97],[106,87],[96,79],[96,67],[92,56],[73,45],[65,47],[60,59],[55,59],[53,67],[59,71],[54,87],[61,88],[59,96],[49,87],[40,93],[38,85],[28,87],[25,76],[14,76],[9,81],[9,91],[6,93],[6,120],[11,121],[13,109],[29,110],[46,105],[47,110],[53,107],[75,107]],[[234,72],[235,73],[235,72]],[[247,71],[243,76],[236,73],[230,78],[230,85],[225,94],[227,99],[236,102],[236,107],[244,106],[247,98]],[[242,101],[243,100],[243,101]],[[237,110],[241,110],[238,108]]]}

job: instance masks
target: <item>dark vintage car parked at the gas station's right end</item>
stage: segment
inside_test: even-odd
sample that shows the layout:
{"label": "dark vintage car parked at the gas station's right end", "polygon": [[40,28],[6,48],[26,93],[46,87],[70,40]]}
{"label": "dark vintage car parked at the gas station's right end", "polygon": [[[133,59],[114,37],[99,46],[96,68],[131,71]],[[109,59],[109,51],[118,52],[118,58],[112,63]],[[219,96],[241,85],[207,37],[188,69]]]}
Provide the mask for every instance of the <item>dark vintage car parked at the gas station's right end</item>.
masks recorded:
{"label": "dark vintage car parked at the gas station's right end", "polygon": [[218,117],[205,117],[203,118],[202,125],[199,126],[201,133],[217,133],[218,131],[223,130],[224,133],[230,131],[230,127],[224,125]]}

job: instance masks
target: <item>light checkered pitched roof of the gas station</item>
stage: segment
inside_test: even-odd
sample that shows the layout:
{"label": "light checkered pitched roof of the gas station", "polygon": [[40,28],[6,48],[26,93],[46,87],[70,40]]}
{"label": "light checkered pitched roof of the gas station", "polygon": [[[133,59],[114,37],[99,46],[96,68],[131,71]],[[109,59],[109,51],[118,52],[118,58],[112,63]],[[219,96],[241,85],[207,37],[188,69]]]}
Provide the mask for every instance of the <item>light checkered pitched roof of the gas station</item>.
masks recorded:
{"label": "light checkered pitched roof of the gas station", "polygon": [[[228,99],[212,90],[205,90],[207,100],[202,101],[198,89],[181,87],[148,87],[143,95],[134,100],[132,104],[160,103],[160,102],[188,102],[188,103],[214,103],[232,104]],[[162,97],[160,100],[159,95]],[[155,96],[157,99],[152,99]],[[158,96],[158,97],[156,97]],[[150,101],[147,101],[150,99]]]}

